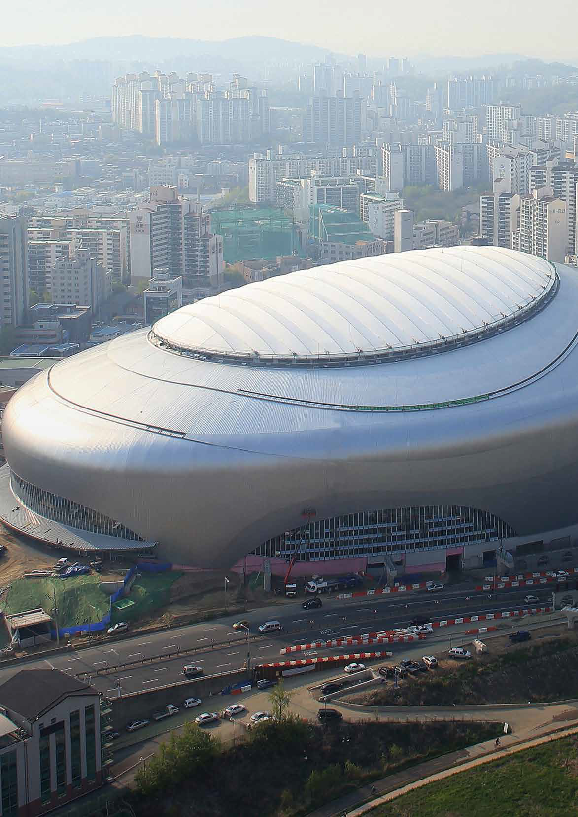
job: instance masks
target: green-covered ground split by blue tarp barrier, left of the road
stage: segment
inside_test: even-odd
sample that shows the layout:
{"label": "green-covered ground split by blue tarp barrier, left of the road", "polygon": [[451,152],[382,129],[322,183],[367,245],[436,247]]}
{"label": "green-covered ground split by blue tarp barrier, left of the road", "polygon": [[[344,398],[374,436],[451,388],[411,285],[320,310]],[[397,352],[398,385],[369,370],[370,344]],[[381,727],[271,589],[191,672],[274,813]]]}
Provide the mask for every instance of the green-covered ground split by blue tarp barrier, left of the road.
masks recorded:
{"label": "green-covered ground split by blue tarp barrier, left of the road", "polygon": [[109,595],[100,589],[98,576],[19,578],[12,582],[2,607],[6,613],[21,613],[34,607],[49,612],[55,590],[60,627],[100,621],[109,611]]}

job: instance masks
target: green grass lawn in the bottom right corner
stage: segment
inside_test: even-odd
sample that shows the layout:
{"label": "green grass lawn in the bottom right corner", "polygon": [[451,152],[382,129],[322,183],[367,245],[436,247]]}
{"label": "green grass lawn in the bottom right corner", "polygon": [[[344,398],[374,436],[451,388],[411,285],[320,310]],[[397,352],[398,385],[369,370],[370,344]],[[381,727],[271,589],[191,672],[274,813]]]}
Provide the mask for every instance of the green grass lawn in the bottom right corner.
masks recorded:
{"label": "green grass lawn in the bottom right corner", "polygon": [[578,815],[578,738],[563,738],[371,810],[372,817],[570,817]]}

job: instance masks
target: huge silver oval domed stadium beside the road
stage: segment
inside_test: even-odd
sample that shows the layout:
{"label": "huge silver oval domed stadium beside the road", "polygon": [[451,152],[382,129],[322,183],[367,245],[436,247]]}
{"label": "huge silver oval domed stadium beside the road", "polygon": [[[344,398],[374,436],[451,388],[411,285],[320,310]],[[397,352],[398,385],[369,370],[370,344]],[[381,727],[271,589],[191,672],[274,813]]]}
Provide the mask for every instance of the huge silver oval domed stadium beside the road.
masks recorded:
{"label": "huge silver oval domed stadium beside the road", "polygon": [[574,544],[578,276],[495,247],[295,272],[56,362],[0,516],[77,550],[338,574]]}

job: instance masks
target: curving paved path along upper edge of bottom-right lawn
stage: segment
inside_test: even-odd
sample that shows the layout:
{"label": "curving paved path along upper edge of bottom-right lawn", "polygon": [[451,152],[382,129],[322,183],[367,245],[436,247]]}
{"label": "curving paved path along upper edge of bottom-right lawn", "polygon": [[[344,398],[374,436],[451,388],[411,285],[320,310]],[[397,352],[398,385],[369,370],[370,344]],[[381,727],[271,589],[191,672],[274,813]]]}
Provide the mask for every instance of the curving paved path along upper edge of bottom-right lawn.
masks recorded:
{"label": "curving paved path along upper edge of bottom-right lawn", "polygon": [[[475,746],[435,757],[431,761],[419,763],[410,769],[376,780],[372,785],[377,789],[377,796],[374,795],[373,799],[371,799],[371,784],[369,784],[359,788],[352,794],[328,803],[327,806],[309,812],[308,817],[340,817],[344,810],[347,812],[347,817],[359,817],[359,815],[367,814],[368,811],[375,809],[377,806],[411,791],[412,788],[425,786],[436,780],[442,780],[461,771],[471,769],[474,766],[481,766],[484,763],[495,761],[505,755],[522,752],[524,749],[538,746],[540,743],[549,743],[551,740],[576,733],[578,733],[578,726],[575,725],[567,729],[556,730],[554,734],[550,732],[541,737],[524,738],[522,740],[517,739],[513,734],[504,735],[504,737],[500,738],[501,748],[496,748],[493,740],[477,743]],[[360,803],[363,805],[360,806]]]}

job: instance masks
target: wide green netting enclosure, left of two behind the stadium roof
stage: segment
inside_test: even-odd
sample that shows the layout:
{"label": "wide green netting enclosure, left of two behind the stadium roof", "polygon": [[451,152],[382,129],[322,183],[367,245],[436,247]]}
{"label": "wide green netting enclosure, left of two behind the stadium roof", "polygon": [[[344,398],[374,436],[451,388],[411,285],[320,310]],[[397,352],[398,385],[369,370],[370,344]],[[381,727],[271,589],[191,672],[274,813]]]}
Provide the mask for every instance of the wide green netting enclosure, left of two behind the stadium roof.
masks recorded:
{"label": "wide green netting enclosure, left of two behind the stadium roof", "polygon": [[236,261],[271,259],[305,252],[295,217],[279,208],[254,206],[211,210],[211,230],[223,236],[227,264]]}

